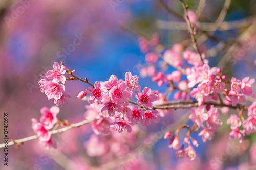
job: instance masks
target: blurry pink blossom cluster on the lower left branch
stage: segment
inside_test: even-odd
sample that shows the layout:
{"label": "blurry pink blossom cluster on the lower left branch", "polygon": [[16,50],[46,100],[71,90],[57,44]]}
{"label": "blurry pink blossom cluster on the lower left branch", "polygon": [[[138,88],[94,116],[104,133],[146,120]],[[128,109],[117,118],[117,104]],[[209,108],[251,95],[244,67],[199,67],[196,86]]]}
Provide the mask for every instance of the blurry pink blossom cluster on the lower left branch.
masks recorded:
{"label": "blurry pink blossom cluster on the lower left branch", "polygon": [[50,129],[58,122],[57,115],[59,113],[59,107],[52,106],[50,109],[48,107],[43,107],[40,110],[41,117],[40,122],[32,118],[32,129],[37,134],[40,143],[49,148],[53,146],[56,148],[56,142],[51,139]]}

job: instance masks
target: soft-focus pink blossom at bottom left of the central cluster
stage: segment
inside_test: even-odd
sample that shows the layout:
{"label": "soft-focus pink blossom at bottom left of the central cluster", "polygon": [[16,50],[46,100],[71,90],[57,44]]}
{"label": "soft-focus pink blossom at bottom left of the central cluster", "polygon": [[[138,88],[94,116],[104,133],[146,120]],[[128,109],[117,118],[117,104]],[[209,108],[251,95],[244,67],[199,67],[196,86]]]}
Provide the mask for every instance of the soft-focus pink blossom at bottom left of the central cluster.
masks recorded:
{"label": "soft-focus pink blossom at bottom left of the central cluster", "polygon": [[96,135],[108,134],[110,131],[110,120],[108,118],[99,118],[92,123],[92,130]]}

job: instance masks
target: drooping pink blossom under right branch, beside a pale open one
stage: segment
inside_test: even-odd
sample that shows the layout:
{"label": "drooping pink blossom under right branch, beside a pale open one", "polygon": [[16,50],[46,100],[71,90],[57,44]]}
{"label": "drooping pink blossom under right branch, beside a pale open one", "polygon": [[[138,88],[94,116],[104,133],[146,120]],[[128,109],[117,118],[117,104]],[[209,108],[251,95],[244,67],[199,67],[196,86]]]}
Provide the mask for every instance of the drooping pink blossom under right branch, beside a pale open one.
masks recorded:
{"label": "drooping pink blossom under right branch, beside a pale open one", "polygon": [[222,125],[222,122],[219,117],[219,112],[216,107],[212,105],[209,111],[207,112],[207,114],[208,114],[207,125],[209,127],[219,127]]}

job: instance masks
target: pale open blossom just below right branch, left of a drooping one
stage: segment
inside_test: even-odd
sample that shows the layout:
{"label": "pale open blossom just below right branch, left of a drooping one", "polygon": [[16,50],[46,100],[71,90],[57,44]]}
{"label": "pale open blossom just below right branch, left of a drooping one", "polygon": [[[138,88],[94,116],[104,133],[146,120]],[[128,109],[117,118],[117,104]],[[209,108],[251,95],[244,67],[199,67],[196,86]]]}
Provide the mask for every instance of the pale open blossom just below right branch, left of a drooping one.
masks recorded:
{"label": "pale open blossom just below right branch, left of a drooping one", "polygon": [[198,107],[197,110],[192,107],[190,111],[191,114],[189,115],[189,119],[199,126],[202,126],[203,122],[205,122],[209,117],[208,114],[205,113],[203,106]]}

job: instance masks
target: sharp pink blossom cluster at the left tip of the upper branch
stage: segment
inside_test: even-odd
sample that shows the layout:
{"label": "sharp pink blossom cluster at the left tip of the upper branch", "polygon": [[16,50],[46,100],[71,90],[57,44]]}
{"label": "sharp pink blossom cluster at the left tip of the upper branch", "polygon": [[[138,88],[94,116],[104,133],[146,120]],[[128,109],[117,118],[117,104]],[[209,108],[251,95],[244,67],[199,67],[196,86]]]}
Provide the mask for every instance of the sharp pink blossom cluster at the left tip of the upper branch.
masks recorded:
{"label": "sharp pink blossom cluster at the left tip of the upper branch", "polygon": [[[68,101],[65,98],[70,98],[69,94],[64,93],[66,82],[66,77],[63,75],[66,72],[66,67],[55,62],[53,64],[53,70],[49,70],[45,77],[41,76],[41,79],[38,84],[41,87],[41,92],[44,92],[47,95],[48,100],[54,99],[54,104],[62,105]],[[47,80],[52,79],[52,80]]]}

